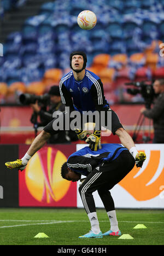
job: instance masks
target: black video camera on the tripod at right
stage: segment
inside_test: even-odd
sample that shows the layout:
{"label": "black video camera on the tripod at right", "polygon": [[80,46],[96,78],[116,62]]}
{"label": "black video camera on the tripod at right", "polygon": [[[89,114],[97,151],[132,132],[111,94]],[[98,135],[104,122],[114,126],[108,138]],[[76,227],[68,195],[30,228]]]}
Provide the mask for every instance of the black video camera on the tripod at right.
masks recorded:
{"label": "black video camera on the tripod at right", "polygon": [[136,88],[128,88],[127,93],[131,95],[140,94],[144,98],[145,107],[150,109],[153,103],[155,92],[153,83],[148,81],[125,83],[125,85],[134,85]]}

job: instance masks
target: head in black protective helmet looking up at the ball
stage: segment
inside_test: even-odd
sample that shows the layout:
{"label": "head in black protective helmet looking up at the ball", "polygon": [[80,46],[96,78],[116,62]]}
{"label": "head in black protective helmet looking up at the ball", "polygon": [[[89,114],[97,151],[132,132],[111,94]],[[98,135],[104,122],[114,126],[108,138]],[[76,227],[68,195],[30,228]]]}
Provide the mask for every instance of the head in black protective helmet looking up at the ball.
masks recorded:
{"label": "head in black protective helmet looking up at the ball", "polygon": [[74,72],[81,72],[86,68],[87,57],[83,51],[73,51],[69,57],[70,67]]}

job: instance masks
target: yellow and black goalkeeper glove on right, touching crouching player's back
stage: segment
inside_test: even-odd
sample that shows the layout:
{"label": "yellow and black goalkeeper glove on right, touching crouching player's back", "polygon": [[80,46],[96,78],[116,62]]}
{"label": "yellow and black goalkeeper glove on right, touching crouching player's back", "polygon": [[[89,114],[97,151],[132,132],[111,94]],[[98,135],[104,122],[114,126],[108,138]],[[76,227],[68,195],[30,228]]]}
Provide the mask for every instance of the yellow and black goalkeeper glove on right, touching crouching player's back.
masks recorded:
{"label": "yellow and black goalkeeper glove on right, touching crouching player's back", "polygon": [[93,151],[101,149],[101,131],[94,131],[85,141]]}

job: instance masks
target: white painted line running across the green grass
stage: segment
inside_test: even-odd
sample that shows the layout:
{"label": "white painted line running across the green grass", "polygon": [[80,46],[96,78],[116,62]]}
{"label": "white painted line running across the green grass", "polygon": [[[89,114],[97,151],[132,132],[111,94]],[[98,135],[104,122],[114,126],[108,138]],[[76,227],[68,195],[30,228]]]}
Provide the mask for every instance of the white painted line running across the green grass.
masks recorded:
{"label": "white painted line running across the green grass", "polygon": [[[32,225],[49,225],[49,224],[57,224],[57,223],[70,223],[70,222],[88,222],[87,220],[6,220],[0,219],[0,222],[36,222],[30,224],[20,224],[20,225],[10,225],[10,226],[0,226],[1,229],[3,228],[14,228],[17,226],[32,226]],[[39,223],[38,223],[39,222]],[[109,220],[100,220],[99,222],[109,222]],[[135,220],[135,221],[128,221],[128,220],[120,220],[119,223],[160,223],[163,224],[164,222],[145,222],[142,220]]]}

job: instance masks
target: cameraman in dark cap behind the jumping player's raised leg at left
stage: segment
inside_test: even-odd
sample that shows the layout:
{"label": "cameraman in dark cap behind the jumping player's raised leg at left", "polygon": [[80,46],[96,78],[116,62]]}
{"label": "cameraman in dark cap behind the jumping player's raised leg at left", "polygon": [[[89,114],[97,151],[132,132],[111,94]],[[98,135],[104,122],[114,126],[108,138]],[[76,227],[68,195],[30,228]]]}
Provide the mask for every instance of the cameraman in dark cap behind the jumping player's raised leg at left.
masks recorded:
{"label": "cameraman in dark cap behind the jumping player's raised leg at left", "polygon": [[[50,106],[49,110],[47,110],[47,106],[40,107],[38,101],[34,104],[30,104],[34,113],[31,118],[31,123],[35,123],[35,116],[40,117],[40,123],[37,122],[37,126],[45,126],[50,123],[54,118],[52,114],[55,111],[65,111],[65,105],[61,102],[60,91],[57,85],[51,86],[49,92],[50,96]],[[60,143],[69,143],[71,141],[76,141],[77,135],[74,131],[60,131],[55,135],[51,135],[48,144],[60,144]]]}

